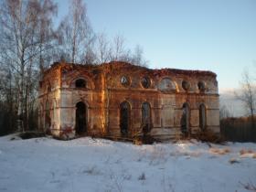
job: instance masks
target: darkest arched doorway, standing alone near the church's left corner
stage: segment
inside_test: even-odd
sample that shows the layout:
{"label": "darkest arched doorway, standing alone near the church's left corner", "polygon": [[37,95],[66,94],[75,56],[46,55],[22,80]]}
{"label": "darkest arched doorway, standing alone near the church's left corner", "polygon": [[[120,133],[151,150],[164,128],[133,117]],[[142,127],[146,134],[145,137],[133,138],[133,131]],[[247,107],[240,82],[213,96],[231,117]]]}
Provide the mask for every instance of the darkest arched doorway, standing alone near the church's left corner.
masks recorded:
{"label": "darkest arched doorway, standing alone near the church's left corner", "polygon": [[76,134],[86,133],[87,131],[87,107],[84,102],[76,104]]}

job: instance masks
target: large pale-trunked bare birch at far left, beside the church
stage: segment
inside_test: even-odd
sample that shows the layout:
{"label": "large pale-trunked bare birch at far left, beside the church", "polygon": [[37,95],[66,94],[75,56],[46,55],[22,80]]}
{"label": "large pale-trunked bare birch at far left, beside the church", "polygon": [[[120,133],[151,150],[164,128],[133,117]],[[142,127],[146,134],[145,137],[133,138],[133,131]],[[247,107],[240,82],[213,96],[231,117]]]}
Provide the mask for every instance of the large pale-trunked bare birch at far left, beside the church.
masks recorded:
{"label": "large pale-trunked bare birch at far left, beside the church", "polygon": [[37,61],[43,60],[38,58],[48,48],[48,38],[42,38],[42,32],[47,32],[48,16],[55,5],[50,0],[5,0],[0,7],[0,64],[11,71],[8,90],[16,101],[19,127],[24,130],[28,127],[31,98],[37,95]]}

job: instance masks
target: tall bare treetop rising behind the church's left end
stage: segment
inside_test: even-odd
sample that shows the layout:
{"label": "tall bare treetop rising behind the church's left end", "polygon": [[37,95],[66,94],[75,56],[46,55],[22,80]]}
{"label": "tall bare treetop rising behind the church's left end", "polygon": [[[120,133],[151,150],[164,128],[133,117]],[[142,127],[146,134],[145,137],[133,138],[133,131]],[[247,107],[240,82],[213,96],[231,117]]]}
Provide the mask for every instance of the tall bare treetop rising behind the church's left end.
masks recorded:
{"label": "tall bare treetop rising behind the church's left end", "polygon": [[93,33],[86,5],[81,0],[70,1],[69,14],[61,21],[58,31],[60,49],[66,59],[72,63],[84,62],[88,58],[86,48],[91,44]]}

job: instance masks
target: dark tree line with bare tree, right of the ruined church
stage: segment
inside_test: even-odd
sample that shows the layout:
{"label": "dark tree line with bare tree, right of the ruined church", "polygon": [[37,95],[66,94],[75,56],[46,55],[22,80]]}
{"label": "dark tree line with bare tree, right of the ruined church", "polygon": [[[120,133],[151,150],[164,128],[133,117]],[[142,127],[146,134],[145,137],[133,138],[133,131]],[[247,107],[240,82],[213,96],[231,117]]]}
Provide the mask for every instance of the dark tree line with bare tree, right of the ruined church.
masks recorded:
{"label": "dark tree line with bare tree, right of the ruined church", "polygon": [[243,103],[244,116],[233,117],[226,105],[220,107],[220,130],[229,141],[256,142],[256,79],[252,74],[249,69],[242,72],[240,89],[233,94]]}

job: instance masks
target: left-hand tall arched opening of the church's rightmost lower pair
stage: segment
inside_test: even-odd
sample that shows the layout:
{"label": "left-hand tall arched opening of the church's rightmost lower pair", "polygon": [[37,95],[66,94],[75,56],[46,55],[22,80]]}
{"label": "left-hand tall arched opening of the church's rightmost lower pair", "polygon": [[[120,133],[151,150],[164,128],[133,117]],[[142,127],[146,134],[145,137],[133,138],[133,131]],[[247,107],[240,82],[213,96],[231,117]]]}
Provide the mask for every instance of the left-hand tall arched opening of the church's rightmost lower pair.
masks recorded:
{"label": "left-hand tall arched opening of the church's rightmost lower pair", "polygon": [[189,106],[187,103],[184,103],[182,106],[182,116],[180,120],[180,126],[181,126],[181,132],[186,135],[189,133],[189,122],[190,122]]}

